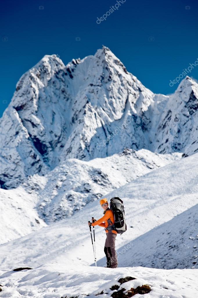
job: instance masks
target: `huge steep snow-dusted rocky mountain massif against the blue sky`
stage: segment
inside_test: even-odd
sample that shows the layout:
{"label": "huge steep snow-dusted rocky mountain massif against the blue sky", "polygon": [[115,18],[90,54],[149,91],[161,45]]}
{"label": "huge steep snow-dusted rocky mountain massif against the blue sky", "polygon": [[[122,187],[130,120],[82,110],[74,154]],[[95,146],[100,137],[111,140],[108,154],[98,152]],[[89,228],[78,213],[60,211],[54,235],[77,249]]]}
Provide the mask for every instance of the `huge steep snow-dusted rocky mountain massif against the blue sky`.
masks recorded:
{"label": "huge steep snow-dusted rocky mountain massif against the blue sky", "polygon": [[197,83],[153,94],[103,46],[66,66],[46,55],[19,80],[0,119],[0,185],[16,187],[68,158],[91,160],[124,148],[198,150]]}

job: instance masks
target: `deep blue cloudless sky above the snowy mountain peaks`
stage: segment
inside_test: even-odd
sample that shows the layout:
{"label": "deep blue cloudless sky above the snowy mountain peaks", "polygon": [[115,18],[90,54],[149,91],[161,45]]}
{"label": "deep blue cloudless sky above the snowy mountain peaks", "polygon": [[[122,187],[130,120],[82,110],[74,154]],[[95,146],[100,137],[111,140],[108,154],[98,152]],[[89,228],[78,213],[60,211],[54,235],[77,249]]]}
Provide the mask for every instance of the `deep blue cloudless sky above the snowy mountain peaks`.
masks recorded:
{"label": "deep blue cloudless sky above the snowy mountain peaks", "polygon": [[[126,0],[106,21],[96,24],[97,17],[116,3],[1,1],[0,117],[20,76],[44,55],[58,54],[66,64],[72,58],[94,55],[102,44],[147,88],[155,93],[172,93],[178,84],[170,87],[170,80],[198,58],[197,1]],[[39,9],[42,5],[44,9]],[[189,76],[198,79],[198,67]]]}

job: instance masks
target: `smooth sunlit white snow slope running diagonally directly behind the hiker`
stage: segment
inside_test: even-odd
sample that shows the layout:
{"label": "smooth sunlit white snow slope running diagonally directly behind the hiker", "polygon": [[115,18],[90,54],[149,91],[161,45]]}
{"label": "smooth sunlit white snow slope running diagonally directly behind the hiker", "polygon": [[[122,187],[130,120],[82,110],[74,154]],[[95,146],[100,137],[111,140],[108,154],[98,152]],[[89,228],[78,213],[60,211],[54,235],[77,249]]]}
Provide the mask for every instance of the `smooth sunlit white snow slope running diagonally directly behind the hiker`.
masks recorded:
{"label": "smooth sunlit white snow slope running diagonally directly behind the hiker", "polygon": [[[112,196],[120,196],[124,201],[126,211],[128,229],[126,233],[118,235],[116,238],[118,252],[123,249],[123,246],[132,247],[133,240],[137,237],[197,204],[197,158],[198,154],[194,154],[168,164],[107,195],[108,199]],[[70,218],[1,245],[0,267],[10,270],[13,267],[35,267],[43,263],[56,262],[66,265],[93,265],[93,248],[87,225],[87,221],[92,216],[96,219],[102,217],[102,209],[99,207],[98,201],[87,204]],[[190,223],[191,219],[189,219],[191,231],[188,230],[188,233],[194,235],[194,226],[191,226]],[[176,227],[173,226],[172,229],[176,229]],[[99,226],[96,226],[95,233],[97,260],[99,260],[104,257],[106,235]],[[182,259],[186,255],[186,249],[182,249],[182,245],[180,248],[180,258]],[[7,251],[10,252],[9,255],[7,255]],[[159,247],[159,253],[163,254],[163,251],[164,243]],[[192,251],[190,250],[190,252]],[[172,251],[170,257],[171,254]],[[133,254],[131,254],[132,257]],[[104,259],[101,262],[103,266]],[[160,266],[159,263],[156,265]],[[191,268],[190,262],[188,265]],[[122,261],[119,259],[118,266],[122,266]],[[161,262],[161,266],[163,268],[163,262]],[[175,264],[170,263],[169,266],[172,268],[172,266],[175,267]]]}

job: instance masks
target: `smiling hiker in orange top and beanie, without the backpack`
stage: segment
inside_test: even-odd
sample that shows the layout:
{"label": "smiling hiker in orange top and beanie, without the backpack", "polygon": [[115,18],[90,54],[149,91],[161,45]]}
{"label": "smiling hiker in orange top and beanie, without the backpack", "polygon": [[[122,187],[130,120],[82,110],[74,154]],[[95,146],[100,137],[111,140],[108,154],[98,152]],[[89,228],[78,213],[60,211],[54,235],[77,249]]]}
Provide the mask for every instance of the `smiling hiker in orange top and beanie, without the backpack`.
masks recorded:
{"label": "smiling hiker in orange top and beanie, without the backpack", "polygon": [[88,223],[88,225],[98,225],[105,228],[107,238],[104,244],[104,252],[107,258],[107,268],[116,268],[118,265],[117,254],[115,251],[115,238],[117,236],[117,232],[113,229],[114,226],[112,226],[114,224],[113,211],[108,207],[106,198],[100,200],[100,206],[102,207],[102,209],[104,209],[104,216],[97,221],[93,218],[92,223]]}

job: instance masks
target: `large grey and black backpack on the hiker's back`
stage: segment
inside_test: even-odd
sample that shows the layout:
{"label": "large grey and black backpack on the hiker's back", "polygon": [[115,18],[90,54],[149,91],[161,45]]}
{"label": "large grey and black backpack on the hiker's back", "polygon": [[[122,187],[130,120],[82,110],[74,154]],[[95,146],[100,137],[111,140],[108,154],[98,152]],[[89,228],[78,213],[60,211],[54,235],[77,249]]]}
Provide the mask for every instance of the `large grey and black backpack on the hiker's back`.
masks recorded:
{"label": "large grey and black backpack on the hiker's back", "polygon": [[118,234],[126,232],[125,212],[123,201],[118,198],[110,199],[110,209],[114,215],[114,229]]}

